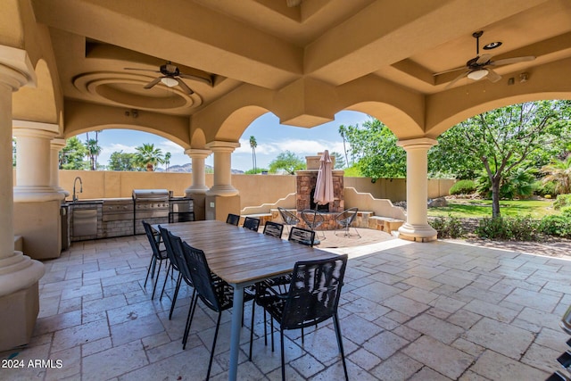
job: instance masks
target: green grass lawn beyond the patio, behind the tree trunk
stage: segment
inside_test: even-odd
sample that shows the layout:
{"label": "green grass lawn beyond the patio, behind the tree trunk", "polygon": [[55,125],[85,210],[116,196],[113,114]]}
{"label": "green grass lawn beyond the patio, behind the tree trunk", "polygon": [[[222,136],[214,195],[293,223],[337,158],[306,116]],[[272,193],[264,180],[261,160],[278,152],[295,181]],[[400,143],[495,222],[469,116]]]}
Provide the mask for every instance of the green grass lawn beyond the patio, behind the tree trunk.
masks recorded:
{"label": "green grass lawn beyond the patio, behind the tree trunk", "polygon": [[[553,209],[553,200],[506,200],[500,201],[502,217],[526,217],[541,219],[543,216],[558,214]],[[448,200],[448,206],[428,208],[429,217],[481,218],[492,217],[492,200]]]}

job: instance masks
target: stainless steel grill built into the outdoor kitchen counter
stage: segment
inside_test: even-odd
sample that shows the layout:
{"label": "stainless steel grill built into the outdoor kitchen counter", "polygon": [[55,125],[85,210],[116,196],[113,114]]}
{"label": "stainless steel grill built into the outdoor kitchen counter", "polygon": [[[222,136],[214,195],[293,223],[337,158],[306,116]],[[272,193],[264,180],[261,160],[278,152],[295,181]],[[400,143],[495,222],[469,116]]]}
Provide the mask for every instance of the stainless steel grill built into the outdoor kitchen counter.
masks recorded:
{"label": "stainless steel grill built into the outdoor kitchen counter", "polygon": [[133,189],[133,234],[145,232],[141,221],[169,222],[169,191],[167,189]]}

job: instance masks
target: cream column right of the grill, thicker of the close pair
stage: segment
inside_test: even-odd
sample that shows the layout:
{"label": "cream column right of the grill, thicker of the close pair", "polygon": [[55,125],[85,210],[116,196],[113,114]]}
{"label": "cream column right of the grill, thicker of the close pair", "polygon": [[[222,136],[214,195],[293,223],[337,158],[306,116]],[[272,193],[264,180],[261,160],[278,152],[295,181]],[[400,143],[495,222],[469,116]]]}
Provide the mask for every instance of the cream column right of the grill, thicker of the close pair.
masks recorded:
{"label": "cream column right of the grill, thicker of the close pair", "polygon": [[240,146],[237,142],[213,141],[206,145],[214,153],[214,184],[206,195],[231,196],[238,195],[238,190],[232,186],[231,153]]}

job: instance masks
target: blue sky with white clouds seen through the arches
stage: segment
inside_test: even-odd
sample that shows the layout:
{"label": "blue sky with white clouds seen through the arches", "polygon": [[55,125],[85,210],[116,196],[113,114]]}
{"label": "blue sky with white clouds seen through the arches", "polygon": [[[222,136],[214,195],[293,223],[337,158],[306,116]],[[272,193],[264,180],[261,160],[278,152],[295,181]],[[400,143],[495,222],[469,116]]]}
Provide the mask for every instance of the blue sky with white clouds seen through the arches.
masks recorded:
{"label": "blue sky with white clouds seen through the arches", "polygon": [[[338,132],[339,126],[362,124],[368,118],[368,115],[362,112],[343,111],[338,112],[332,122],[314,128],[299,128],[280,125],[277,117],[268,112],[254,120],[240,137],[241,146],[232,153],[232,169],[244,171],[252,169],[251,136],[255,137],[258,143],[256,147],[258,168],[268,168],[269,162],[286,150],[302,158],[316,155],[326,149],[330,153],[343,153],[343,139]],[[89,133],[89,137],[95,138],[95,134]],[[80,134],[79,139],[85,141],[86,134]],[[106,165],[113,152],[134,153],[135,147],[144,143],[154,144],[155,147],[161,148],[162,153],[170,152],[170,165],[190,162],[190,158],[180,145],[163,137],[128,129],[106,129],[99,134],[99,145],[103,151],[97,162]],[[213,155],[210,155],[206,159],[206,164],[212,165],[212,163]]]}

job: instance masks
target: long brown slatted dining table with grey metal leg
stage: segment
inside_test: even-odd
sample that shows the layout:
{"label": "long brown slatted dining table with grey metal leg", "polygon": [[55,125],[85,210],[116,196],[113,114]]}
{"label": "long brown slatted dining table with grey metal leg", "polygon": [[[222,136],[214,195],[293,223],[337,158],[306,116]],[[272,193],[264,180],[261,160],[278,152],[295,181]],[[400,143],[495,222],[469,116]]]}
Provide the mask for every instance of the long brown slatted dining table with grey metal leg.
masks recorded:
{"label": "long brown slatted dining table with grey metal leg", "polygon": [[161,224],[161,227],[202,250],[211,271],[234,287],[228,369],[228,379],[232,381],[237,377],[244,287],[287,274],[294,269],[296,261],[321,260],[336,255],[219,220]]}

